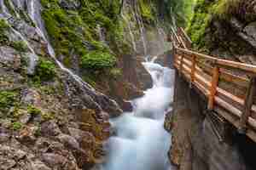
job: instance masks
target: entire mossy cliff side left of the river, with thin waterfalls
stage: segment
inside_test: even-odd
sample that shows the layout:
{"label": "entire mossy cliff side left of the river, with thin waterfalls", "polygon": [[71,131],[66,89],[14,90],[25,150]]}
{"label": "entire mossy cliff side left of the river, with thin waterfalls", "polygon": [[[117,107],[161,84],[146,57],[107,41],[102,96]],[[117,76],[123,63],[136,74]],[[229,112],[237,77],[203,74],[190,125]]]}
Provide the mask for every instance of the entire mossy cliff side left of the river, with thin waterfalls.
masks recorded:
{"label": "entire mossy cliff side left of the river, with thin waterfalls", "polygon": [[108,118],[152,85],[142,56],[169,47],[157,4],[0,0],[0,169],[104,161]]}

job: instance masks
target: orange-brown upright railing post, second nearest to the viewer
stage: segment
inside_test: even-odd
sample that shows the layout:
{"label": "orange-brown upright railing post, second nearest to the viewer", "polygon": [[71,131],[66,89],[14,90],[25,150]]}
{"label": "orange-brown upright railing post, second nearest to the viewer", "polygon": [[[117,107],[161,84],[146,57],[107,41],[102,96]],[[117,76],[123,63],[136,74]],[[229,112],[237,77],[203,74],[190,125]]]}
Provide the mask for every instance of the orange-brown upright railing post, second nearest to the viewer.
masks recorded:
{"label": "orange-brown upright railing post, second nearest to the viewer", "polygon": [[211,83],[210,94],[208,99],[208,110],[210,111],[212,111],[214,108],[214,97],[217,92],[218,79],[219,79],[219,67],[218,65],[215,65],[212,70],[212,83]]}

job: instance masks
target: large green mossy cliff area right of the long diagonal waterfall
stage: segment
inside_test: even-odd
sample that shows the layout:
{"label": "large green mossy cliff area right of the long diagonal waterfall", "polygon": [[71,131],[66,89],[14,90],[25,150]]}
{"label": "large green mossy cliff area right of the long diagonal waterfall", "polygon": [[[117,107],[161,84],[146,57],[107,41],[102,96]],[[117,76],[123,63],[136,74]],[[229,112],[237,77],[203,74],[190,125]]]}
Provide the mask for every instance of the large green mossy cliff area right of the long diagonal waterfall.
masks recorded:
{"label": "large green mossy cliff area right of the long diagonal waterfall", "polygon": [[[71,66],[71,55],[82,59],[83,65],[90,65],[91,53],[113,54],[101,41],[99,29],[106,30],[106,41],[122,43],[123,30],[119,25],[119,1],[81,1],[79,8],[63,8],[58,1],[41,0],[46,29],[57,56],[62,56],[67,66]],[[119,45],[117,45],[118,47]],[[119,50],[119,48],[115,48]],[[91,52],[91,50],[93,52]],[[83,59],[90,56],[90,59]],[[99,55],[96,55],[96,57]],[[85,57],[86,58],[86,57]],[[88,63],[86,63],[88,61]],[[101,62],[98,60],[97,62]],[[99,65],[105,65],[105,60]],[[87,66],[85,66],[87,67]]]}

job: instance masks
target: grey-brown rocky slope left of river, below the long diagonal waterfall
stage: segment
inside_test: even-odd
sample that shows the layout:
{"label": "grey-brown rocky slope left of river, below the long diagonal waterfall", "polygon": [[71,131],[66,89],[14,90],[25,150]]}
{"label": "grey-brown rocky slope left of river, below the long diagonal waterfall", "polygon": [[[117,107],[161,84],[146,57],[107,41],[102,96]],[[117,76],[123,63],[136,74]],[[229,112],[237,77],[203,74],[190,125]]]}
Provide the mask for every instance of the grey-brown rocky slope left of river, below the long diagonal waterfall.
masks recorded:
{"label": "grey-brown rocky slope left of river, below the long diagonal waterfall", "polygon": [[[26,13],[32,1],[7,2]],[[80,6],[79,1],[60,3],[67,9]],[[6,31],[9,43],[0,42],[0,169],[80,170],[102,163],[109,115],[119,116],[119,105],[56,65],[29,14],[7,21],[4,17],[10,15],[0,14],[11,26]],[[35,59],[32,72],[30,59]],[[44,71],[49,62],[55,76],[44,80],[37,68]]]}

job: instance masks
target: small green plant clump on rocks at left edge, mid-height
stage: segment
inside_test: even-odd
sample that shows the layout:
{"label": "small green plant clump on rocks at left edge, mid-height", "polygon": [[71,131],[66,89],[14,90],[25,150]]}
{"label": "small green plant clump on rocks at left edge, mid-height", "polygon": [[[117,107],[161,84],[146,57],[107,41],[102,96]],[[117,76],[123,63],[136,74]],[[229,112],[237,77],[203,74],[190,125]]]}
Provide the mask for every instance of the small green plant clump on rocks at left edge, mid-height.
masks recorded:
{"label": "small green plant clump on rocks at left edge, mid-height", "polygon": [[0,91],[0,111],[6,111],[15,105],[17,94],[12,91]]}

